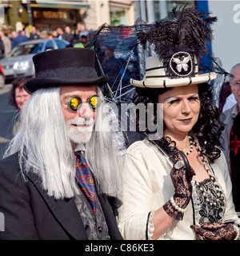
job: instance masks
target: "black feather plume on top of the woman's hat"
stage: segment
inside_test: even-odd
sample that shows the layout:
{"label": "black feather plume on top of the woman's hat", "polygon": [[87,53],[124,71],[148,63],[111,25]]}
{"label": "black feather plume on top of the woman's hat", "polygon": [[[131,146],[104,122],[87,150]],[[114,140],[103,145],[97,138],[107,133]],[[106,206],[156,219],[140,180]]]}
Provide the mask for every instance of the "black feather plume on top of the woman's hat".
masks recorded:
{"label": "black feather plume on top of the woman's hat", "polygon": [[146,43],[154,45],[159,58],[168,58],[179,50],[195,54],[197,58],[207,53],[206,43],[212,39],[210,25],[217,17],[210,13],[186,9],[172,11],[170,19],[155,22],[148,31],[138,33],[138,40],[146,48]]}

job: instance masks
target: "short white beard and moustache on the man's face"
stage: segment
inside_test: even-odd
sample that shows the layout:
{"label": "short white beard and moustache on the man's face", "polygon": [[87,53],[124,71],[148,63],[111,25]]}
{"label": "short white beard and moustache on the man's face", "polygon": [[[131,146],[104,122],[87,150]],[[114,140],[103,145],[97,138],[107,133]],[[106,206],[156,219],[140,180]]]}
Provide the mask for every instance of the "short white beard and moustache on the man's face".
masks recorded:
{"label": "short white beard and moustache on the man's face", "polygon": [[87,143],[94,129],[94,118],[70,119],[66,122],[67,134],[71,142]]}

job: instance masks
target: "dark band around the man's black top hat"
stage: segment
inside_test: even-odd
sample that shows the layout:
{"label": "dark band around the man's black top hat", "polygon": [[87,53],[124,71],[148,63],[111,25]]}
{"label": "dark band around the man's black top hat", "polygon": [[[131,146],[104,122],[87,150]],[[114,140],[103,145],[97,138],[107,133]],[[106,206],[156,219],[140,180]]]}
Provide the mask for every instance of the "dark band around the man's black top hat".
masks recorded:
{"label": "dark band around the man's black top hat", "polygon": [[44,70],[35,74],[35,78],[64,78],[72,80],[73,78],[98,78],[98,74],[93,67],[90,66],[69,66]]}

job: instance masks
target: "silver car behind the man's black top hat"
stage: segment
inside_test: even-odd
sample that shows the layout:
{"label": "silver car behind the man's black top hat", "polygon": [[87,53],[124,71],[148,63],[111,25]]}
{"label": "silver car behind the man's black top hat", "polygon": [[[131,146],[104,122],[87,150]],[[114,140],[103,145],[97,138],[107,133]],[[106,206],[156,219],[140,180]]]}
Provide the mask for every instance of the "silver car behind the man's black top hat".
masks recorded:
{"label": "silver car behind the man's black top hat", "polygon": [[1,59],[6,79],[33,76],[35,74],[32,60],[34,54],[66,48],[69,44],[70,42],[58,38],[36,39],[20,43],[6,58]]}

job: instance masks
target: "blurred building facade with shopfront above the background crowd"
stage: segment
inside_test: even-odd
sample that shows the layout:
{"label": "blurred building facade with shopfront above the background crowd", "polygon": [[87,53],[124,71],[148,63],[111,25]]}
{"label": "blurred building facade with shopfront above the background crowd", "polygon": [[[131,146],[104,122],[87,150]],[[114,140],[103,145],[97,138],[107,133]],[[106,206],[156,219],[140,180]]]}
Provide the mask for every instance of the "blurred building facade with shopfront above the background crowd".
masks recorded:
{"label": "blurred building facade with shopfront above the background crowd", "polygon": [[[55,30],[57,27],[70,26],[83,22],[86,29],[96,30],[102,24],[113,26],[133,25],[135,21],[133,1],[0,1],[4,6],[5,17],[2,26],[12,30],[35,26],[38,30]],[[29,5],[29,6],[28,6]],[[30,7],[30,8],[28,8]],[[22,23],[22,26],[19,26]]]}

